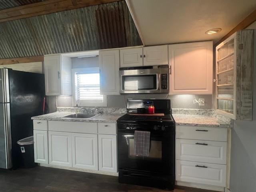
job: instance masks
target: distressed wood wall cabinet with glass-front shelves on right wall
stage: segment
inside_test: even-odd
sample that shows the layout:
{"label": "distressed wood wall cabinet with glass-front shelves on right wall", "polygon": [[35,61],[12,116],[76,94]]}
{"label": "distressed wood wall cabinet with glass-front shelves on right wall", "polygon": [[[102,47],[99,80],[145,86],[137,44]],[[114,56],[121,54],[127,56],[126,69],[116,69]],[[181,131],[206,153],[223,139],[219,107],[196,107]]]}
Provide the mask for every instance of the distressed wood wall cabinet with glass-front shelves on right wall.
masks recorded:
{"label": "distressed wood wall cabinet with glass-front shelves on right wall", "polygon": [[216,110],[252,120],[254,30],[241,30],[216,46]]}

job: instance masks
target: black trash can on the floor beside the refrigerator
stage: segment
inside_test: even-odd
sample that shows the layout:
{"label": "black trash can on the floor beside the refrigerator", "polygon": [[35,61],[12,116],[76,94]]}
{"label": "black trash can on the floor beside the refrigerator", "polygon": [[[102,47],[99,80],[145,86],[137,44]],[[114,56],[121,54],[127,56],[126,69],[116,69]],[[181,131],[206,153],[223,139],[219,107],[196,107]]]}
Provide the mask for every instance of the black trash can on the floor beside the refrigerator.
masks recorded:
{"label": "black trash can on the floor beside the refrigerator", "polygon": [[34,160],[34,136],[30,136],[17,141],[20,146],[21,167],[33,168],[37,166]]}

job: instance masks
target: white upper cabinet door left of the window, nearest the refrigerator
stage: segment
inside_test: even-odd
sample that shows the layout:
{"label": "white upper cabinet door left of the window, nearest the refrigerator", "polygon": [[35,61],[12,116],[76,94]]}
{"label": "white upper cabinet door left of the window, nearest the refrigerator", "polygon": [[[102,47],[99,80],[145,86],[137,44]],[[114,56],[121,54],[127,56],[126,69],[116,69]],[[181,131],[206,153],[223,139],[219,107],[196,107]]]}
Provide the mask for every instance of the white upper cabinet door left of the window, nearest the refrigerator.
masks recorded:
{"label": "white upper cabinet door left of the window, nearest the refrigerator", "polygon": [[45,94],[61,95],[61,55],[44,56]]}

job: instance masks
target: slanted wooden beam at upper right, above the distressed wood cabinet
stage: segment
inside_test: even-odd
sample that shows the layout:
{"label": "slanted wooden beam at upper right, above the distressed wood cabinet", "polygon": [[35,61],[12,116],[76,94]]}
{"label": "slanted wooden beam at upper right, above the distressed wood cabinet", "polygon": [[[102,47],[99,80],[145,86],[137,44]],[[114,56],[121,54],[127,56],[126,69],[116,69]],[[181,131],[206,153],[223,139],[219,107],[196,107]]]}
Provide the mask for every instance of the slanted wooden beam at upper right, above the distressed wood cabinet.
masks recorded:
{"label": "slanted wooden beam at upper right, above the distressed wood cabinet", "polygon": [[254,10],[250,15],[248,15],[244,20],[242,20],[234,29],[232,29],[228,34],[226,34],[224,37],[222,37],[214,46],[216,47],[218,44],[226,40],[228,37],[230,37],[232,34],[234,34],[237,31],[240,31],[242,29],[247,28],[256,21],[256,10]]}

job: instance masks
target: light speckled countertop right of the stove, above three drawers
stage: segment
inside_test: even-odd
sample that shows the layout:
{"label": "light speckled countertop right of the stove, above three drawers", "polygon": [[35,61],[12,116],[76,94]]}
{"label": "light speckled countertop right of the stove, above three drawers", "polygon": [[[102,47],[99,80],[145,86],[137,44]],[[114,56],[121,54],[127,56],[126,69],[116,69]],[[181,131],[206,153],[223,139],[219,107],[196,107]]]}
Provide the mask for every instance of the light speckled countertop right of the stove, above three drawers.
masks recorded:
{"label": "light speckled countertop right of the stove, above three drawers", "polygon": [[212,116],[173,114],[176,125],[230,128],[230,122]]}

